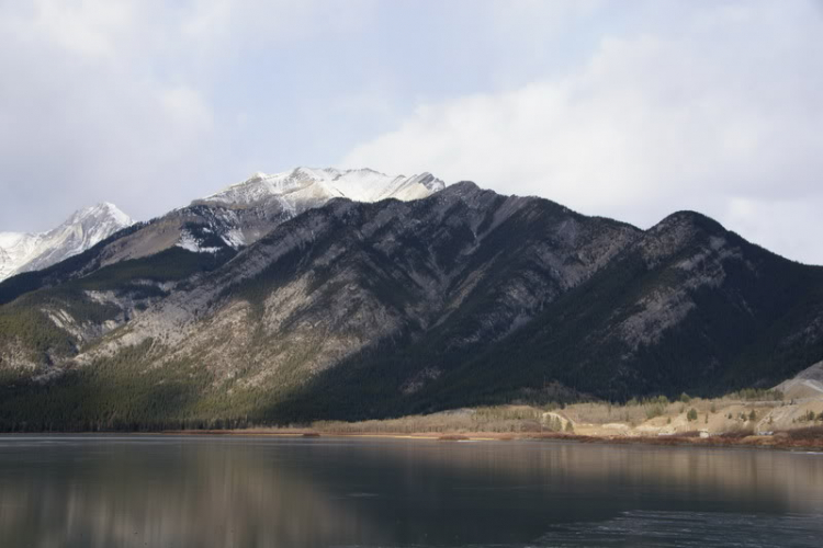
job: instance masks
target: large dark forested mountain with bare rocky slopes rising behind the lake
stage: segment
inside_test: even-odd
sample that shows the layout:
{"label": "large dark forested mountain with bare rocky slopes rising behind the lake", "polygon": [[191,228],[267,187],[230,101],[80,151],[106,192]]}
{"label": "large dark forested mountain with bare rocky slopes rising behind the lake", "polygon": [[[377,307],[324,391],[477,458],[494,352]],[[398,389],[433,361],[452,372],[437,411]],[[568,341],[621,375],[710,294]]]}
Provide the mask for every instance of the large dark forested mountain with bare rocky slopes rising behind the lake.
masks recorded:
{"label": "large dark forested mountain with bare rocky slopes rising behind the lake", "polygon": [[[462,182],[284,218],[284,189],[300,184],[253,190],[266,179],[31,273],[40,285],[0,284],[0,427],[717,395],[823,359],[823,269],[697,213],[641,230]],[[313,181],[300,187],[327,190]],[[215,219],[236,216],[225,226],[246,235],[264,215],[283,220],[236,249],[207,239]],[[181,227],[196,247],[180,244]]]}

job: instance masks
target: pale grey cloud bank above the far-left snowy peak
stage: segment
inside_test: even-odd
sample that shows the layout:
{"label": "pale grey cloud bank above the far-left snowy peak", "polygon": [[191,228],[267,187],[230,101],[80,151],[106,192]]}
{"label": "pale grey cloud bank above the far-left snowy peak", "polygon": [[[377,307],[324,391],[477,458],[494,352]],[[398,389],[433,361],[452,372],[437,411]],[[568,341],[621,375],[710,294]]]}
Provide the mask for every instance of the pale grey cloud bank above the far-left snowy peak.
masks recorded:
{"label": "pale grey cloud bank above the far-left snowy peak", "polygon": [[3,5],[0,34],[3,229],[48,228],[103,199],[140,217],[180,198],[170,183],[212,150],[212,110],[137,62],[134,3]]}

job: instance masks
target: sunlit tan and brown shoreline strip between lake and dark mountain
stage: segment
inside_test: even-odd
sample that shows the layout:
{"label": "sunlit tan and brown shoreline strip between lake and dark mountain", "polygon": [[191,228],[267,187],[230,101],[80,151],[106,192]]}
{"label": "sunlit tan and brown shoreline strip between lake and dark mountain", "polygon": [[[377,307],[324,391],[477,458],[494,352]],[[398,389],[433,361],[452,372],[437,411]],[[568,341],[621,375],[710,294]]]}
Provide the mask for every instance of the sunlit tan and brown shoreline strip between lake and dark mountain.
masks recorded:
{"label": "sunlit tan and brown shoreline strip between lake and dark mountain", "polygon": [[543,439],[823,450],[823,399],[785,400],[774,391],[711,400],[683,395],[676,401],[658,397],[621,406],[604,402],[542,408],[510,404],[360,422],[318,421],[284,427],[166,433],[442,442]]}

